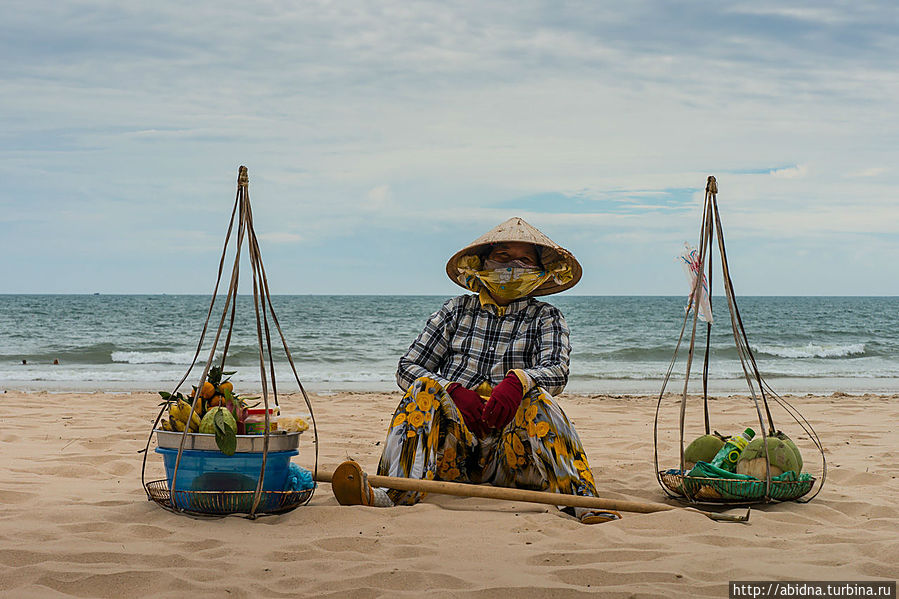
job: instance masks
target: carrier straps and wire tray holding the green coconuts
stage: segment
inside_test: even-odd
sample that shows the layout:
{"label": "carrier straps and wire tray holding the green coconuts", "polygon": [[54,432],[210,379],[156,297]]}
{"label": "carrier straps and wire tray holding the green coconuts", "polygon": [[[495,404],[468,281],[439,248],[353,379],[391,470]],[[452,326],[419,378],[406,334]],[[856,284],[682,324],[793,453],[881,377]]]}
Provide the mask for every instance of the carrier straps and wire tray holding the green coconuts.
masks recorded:
{"label": "carrier straps and wire tray holding the green coconuts", "polygon": [[[693,356],[694,351],[696,349],[696,335],[697,335],[697,324],[699,319],[699,300],[701,297],[701,289],[702,289],[702,279],[703,274],[708,272],[708,289],[709,289],[709,303],[711,304],[712,300],[712,244],[713,241],[717,239],[718,253],[721,259],[721,271],[722,271],[722,280],[724,283],[724,292],[725,297],[727,298],[728,311],[730,313],[730,321],[731,328],[733,330],[734,343],[737,348],[737,355],[740,358],[740,364],[742,366],[743,374],[746,379],[746,384],[749,387],[750,396],[752,402],[755,407],[756,414],[758,415],[759,427],[762,433],[762,439],[764,439],[763,443],[765,444],[766,452],[768,447],[767,438],[770,435],[775,434],[777,429],[774,425],[774,419],[771,413],[771,406],[769,405],[769,399],[773,401],[776,405],[780,406],[793,420],[799,425],[799,427],[808,435],[809,439],[814,443],[816,449],[821,455],[821,476],[820,479],[813,478],[811,481],[811,485],[807,490],[801,492],[802,490],[798,490],[797,493],[801,494],[797,497],[790,497],[789,499],[776,498],[772,494],[772,485],[780,485],[782,484],[780,481],[772,481],[771,476],[771,468],[770,465],[766,468],[766,479],[764,481],[759,481],[759,484],[764,484],[765,493],[761,498],[725,498],[721,497],[720,493],[718,497],[714,496],[714,493],[708,492],[708,482],[713,480],[724,481],[725,484],[745,484],[747,481],[741,479],[700,479],[699,477],[689,477],[686,476],[685,469],[685,460],[684,460],[684,420],[686,416],[686,406],[687,406],[687,390],[690,382],[690,371],[693,365]],[[821,445],[821,441],[818,438],[817,433],[815,433],[814,428],[802,416],[799,411],[792,406],[788,401],[778,395],[774,389],[771,388],[770,385],[764,380],[761,372],[759,371],[758,365],[755,360],[755,356],[752,353],[752,349],[749,346],[749,340],[746,336],[746,329],[743,326],[743,320],[740,316],[739,308],[737,307],[737,299],[733,289],[733,282],[731,280],[730,269],[728,267],[727,262],[727,252],[725,250],[724,244],[724,230],[721,224],[721,217],[718,211],[718,182],[715,177],[710,176],[706,181],[705,188],[705,198],[703,202],[703,220],[702,227],[700,228],[699,235],[699,272],[696,276],[696,281],[693,284],[693,288],[690,291],[688,306],[691,309],[688,309],[684,314],[684,322],[681,326],[680,335],[677,340],[677,345],[674,348],[674,355],[671,358],[671,362],[668,365],[668,370],[665,374],[665,378],[662,382],[662,389],[659,392],[659,399],[656,405],[655,412],[655,422],[653,424],[653,453],[654,453],[654,464],[656,470],[656,478],[659,482],[659,485],[662,487],[662,490],[665,493],[674,499],[678,500],[686,500],[690,503],[732,503],[732,504],[740,504],[740,505],[749,505],[755,503],[769,503],[773,501],[789,501],[795,500],[799,503],[808,503],[821,491],[824,486],[824,481],[827,477],[827,460],[824,455],[824,448]],[[687,353],[687,362],[686,362],[686,374],[684,376],[684,387],[683,392],[681,393],[680,399],[680,467],[676,472],[672,472],[671,470],[662,470],[659,467],[659,414],[661,412],[662,402],[665,396],[665,388],[668,385],[668,381],[671,378],[671,374],[674,371],[674,366],[677,361],[678,350],[680,349],[681,343],[684,340],[684,333],[687,329],[687,323],[690,320],[690,315],[692,313],[692,330],[690,333],[690,343],[689,349]],[[710,340],[711,340],[711,323],[706,323],[706,334],[705,334],[705,354],[703,359],[703,370],[702,370],[702,398],[703,398],[703,415],[704,415],[704,424],[705,424],[705,432],[706,434],[711,433],[711,425],[709,421],[709,402],[708,402],[708,371],[709,371],[709,354],[710,354]],[[691,480],[695,479],[695,480]],[[752,481],[749,481],[752,482]],[[800,497],[807,494],[812,490],[815,483],[817,482],[818,488],[815,490],[814,494],[807,499],[800,500]],[[795,483],[789,483],[795,484]],[[778,489],[780,491],[780,489]],[[789,495],[789,493],[787,493]],[[783,495],[782,493],[778,493],[778,495]]]}

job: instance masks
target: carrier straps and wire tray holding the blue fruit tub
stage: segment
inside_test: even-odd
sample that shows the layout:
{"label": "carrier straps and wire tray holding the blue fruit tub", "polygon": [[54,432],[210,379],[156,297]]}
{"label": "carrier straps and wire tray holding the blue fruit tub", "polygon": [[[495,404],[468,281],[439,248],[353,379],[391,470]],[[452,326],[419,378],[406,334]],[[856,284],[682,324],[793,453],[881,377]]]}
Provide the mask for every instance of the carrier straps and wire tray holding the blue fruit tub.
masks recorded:
{"label": "carrier straps and wire tray holding the blue fruit tub", "polygon": [[[306,393],[306,389],[303,387],[303,383],[300,382],[300,376],[299,374],[297,374],[297,369],[294,365],[293,357],[290,353],[290,348],[287,346],[287,339],[284,337],[284,332],[281,329],[281,324],[278,322],[278,317],[276,316],[275,309],[272,306],[271,294],[269,292],[268,286],[268,278],[265,273],[265,267],[262,264],[262,255],[259,249],[259,241],[256,237],[256,231],[253,227],[253,210],[250,206],[249,186],[250,179],[247,172],[247,167],[241,166],[238,169],[237,173],[237,196],[234,199],[234,206],[231,209],[231,219],[228,223],[228,231],[225,234],[225,241],[222,248],[222,256],[219,260],[215,287],[212,291],[212,299],[210,300],[209,309],[206,313],[206,322],[203,324],[203,330],[200,333],[200,339],[197,342],[197,349],[194,353],[193,360],[191,361],[187,372],[184,373],[184,376],[181,378],[178,384],[175,385],[175,389],[172,391],[172,394],[177,393],[178,389],[181,388],[181,385],[183,385],[187,378],[190,376],[190,373],[196,365],[197,359],[200,356],[200,352],[203,349],[203,343],[206,338],[206,333],[209,330],[209,322],[212,318],[212,312],[218,297],[219,287],[222,283],[222,274],[225,267],[225,258],[228,253],[228,245],[230,244],[232,233],[235,232],[234,225],[236,222],[237,231],[235,240],[234,262],[231,267],[231,279],[227,294],[225,295],[225,304],[224,308],[222,309],[222,315],[218,321],[215,336],[209,348],[209,355],[203,368],[203,373],[199,378],[197,388],[202,388],[203,383],[206,382],[206,378],[209,375],[209,370],[215,361],[215,352],[218,347],[219,340],[221,339],[222,332],[225,329],[225,323],[227,321],[227,333],[225,335],[220,362],[220,367],[222,368],[222,370],[224,370],[225,368],[225,360],[228,356],[228,349],[231,345],[231,335],[234,330],[234,321],[237,312],[237,287],[240,274],[241,249],[243,248],[244,242],[246,242],[250,267],[252,269],[253,307],[256,314],[256,339],[259,349],[259,372],[262,381],[262,400],[265,407],[265,431],[263,433],[262,464],[259,470],[259,480],[256,484],[256,490],[252,492],[252,500],[249,510],[234,509],[233,511],[228,511],[228,506],[233,505],[234,502],[238,499],[241,499],[242,501],[239,501],[236,507],[245,508],[246,493],[250,493],[249,491],[215,491],[208,492],[218,494],[218,496],[215,498],[215,501],[211,504],[215,505],[216,509],[212,510],[211,512],[203,512],[202,510],[198,511],[196,509],[190,509],[191,507],[195,507],[194,500],[196,498],[206,497],[206,495],[203,495],[203,493],[206,492],[177,490],[173,493],[169,491],[167,481],[152,481],[148,483],[146,481],[147,454],[149,453],[150,442],[153,439],[154,430],[157,428],[157,425],[159,424],[159,421],[166,410],[166,405],[163,404],[159,410],[159,413],[156,415],[156,420],[153,422],[153,426],[150,428],[150,434],[147,437],[147,443],[143,450],[144,455],[143,463],[141,465],[141,484],[144,487],[144,491],[147,494],[148,500],[155,501],[163,508],[175,513],[185,513],[194,516],[221,516],[226,515],[227,513],[246,513],[248,518],[255,519],[260,515],[283,513],[299,507],[300,505],[305,505],[312,499],[315,491],[313,487],[313,489],[309,490],[308,493],[293,493],[294,496],[290,499],[290,501],[285,501],[284,496],[277,495],[278,492],[262,490],[263,479],[265,477],[265,465],[269,452],[270,437],[268,411],[270,405],[269,377],[271,379],[272,402],[275,406],[279,405],[278,385],[275,380],[275,362],[272,354],[272,328],[275,329],[278,337],[280,338],[285,356],[287,357],[287,362],[290,364],[291,371],[293,372],[300,392],[303,394],[303,401],[305,402],[306,407],[309,410],[310,420],[312,421],[313,444],[315,445],[315,463],[312,471],[313,480],[315,480],[318,475],[318,427],[315,423],[315,414],[312,410],[312,402],[309,400],[309,396]],[[193,417],[194,410],[195,406],[192,406],[190,417]],[[172,487],[175,488],[177,488],[178,468],[181,463],[181,456],[184,452],[184,445],[187,439],[187,434],[188,430],[185,427],[185,430],[181,436],[181,442],[178,446],[178,455],[175,459],[175,470],[172,475]],[[160,485],[159,483],[163,484]],[[273,495],[273,493],[275,493],[275,495]],[[209,496],[211,497],[212,495]],[[194,498],[194,500],[191,499],[192,497]],[[274,503],[272,503],[271,501],[271,498],[273,497],[277,497],[277,501],[275,501]],[[263,502],[263,499],[265,499],[266,501]],[[205,505],[205,502],[201,502],[199,505]],[[267,506],[271,505],[276,506],[274,510],[264,509]],[[260,506],[263,509],[260,509]]]}

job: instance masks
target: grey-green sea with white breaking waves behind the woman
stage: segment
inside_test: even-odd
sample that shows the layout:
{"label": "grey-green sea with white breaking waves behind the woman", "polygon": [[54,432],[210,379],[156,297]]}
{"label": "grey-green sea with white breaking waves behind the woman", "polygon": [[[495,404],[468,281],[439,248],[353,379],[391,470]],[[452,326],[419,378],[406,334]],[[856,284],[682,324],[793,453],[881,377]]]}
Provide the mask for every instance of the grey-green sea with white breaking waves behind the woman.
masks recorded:
{"label": "grey-green sea with white breaking waves behind the woman", "polygon": [[[327,394],[397,390],[397,360],[446,299],[285,295],[272,297],[272,304],[300,382]],[[684,296],[542,299],[561,309],[571,329],[567,391],[659,393],[684,323]],[[202,295],[0,295],[0,392],[172,391],[185,375],[189,388],[202,375],[222,318],[224,301],[217,298],[212,330],[191,368],[210,302]],[[727,303],[715,297],[712,304],[709,390],[745,393]],[[752,296],[737,305],[759,369],[775,391],[899,392],[899,297]],[[296,391],[277,334],[272,343],[279,348],[279,392]],[[701,389],[702,322],[697,343],[691,390]],[[667,389],[682,389],[686,355],[682,345]],[[237,388],[260,389],[258,356],[253,298],[241,295],[226,357]]]}

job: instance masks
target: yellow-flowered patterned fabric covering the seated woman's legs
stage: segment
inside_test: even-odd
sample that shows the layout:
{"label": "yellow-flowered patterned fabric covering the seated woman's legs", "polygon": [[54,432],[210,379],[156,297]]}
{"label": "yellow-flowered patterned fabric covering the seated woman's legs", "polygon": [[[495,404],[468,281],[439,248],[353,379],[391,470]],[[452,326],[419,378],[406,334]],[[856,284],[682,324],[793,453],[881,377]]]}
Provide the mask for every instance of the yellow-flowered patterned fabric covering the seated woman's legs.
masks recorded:
{"label": "yellow-flowered patterned fabric covering the seated woman's legs", "polygon": [[[393,415],[378,474],[597,496],[577,432],[539,387],[524,396],[505,428],[478,438],[440,383],[417,379]],[[386,491],[395,505],[424,495]]]}

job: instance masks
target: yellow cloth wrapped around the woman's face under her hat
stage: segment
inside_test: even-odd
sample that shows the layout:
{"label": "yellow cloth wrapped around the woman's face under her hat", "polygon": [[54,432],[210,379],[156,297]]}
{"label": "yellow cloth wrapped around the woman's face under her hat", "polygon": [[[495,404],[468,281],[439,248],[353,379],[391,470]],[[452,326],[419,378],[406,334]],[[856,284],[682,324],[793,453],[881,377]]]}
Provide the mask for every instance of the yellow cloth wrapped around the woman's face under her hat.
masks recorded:
{"label": "yellow cloth wrapped around the woman's face under her hat", "polygon": [[460,283],[477,293],[487,289],[495,299],[504,302],[527,297],[549,279],[560,284],[571,279],[571,267],[561,261],[545,269],[517,266],[483,268],[478,256],[462,256],[457,266]]}

